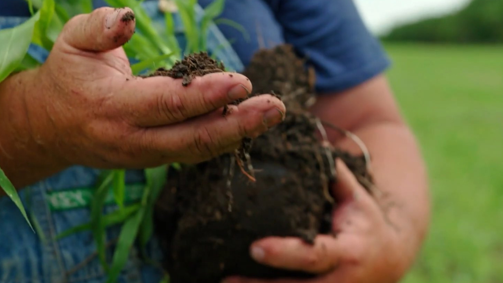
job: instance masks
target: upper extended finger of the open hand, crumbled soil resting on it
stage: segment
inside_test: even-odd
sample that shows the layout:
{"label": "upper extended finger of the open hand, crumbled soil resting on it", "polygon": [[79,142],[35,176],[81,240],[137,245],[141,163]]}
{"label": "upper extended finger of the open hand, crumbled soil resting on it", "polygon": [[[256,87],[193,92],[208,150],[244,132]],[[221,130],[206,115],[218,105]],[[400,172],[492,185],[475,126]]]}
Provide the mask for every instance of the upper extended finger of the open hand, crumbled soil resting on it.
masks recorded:
{"label": "upper extended finger of the open hand, crumbled soil resting on it", "polygon": [[119,99],[127,102],[133,124],[151,127],[209,113],[250,91],[251,83],[243,75],[214,73],[197,77],[187,87],[169,77],[131,81]]}

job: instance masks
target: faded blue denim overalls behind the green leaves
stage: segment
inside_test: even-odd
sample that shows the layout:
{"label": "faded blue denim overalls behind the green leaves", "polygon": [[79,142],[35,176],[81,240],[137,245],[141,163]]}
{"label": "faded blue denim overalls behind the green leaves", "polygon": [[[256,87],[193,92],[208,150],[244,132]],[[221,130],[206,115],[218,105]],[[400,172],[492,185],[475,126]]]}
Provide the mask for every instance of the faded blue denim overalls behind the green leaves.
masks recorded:
{"label": "faded blue denim overalls behind the green leaves", "polygon": [[[158,11],[157,1],[143,2],[155,26],[163,27],[163,14]],[[201,7],[197,13],[201,15]],[[183,45],[183,25],[174,14],[177,37]],[[0,17],[0,29],[14,27],[26,18]],[[229,69],[240,72],[243,65],[218,28],[213,25],[208,32],[207,46]],[[31,46],[30,54],[43,62],[47,51]],[[89,199],[99,170],[81,166],[71,167],[57,175],[40,181],[20,191],[28,213],[34,218],[37,233],[29,228],[18,208],[8,198],[0,198],[0,283],[99,283],[106,274],[96,255],[91,232],[80,232],[56,240],[56,236],[68,228],[89,222],[90,209],[82,205]],[[144,181],[142,171],[128,171],[128,193],[138,194]],[[140,186],[134,186],[140,184]],[[79,188],[75,190],[75,188]],[[87,190],[86,190],[87,188]],[[136,189],[135,189],[136,188]],[[141,191],[140,191],[141,193]],[[62,209],[64,207],[64,209]],[[109,204],[105,213],[116,207]],[[107,242],[119,235],[120,226],[107,230]],[[108,248],[111,259],[113,245]],[[147,245],[149,258],[159,261],[162,254],[153,239]],[[133,249],[121,273],[121,283],[157,283],[162,273],[157,267],[140,260],[139,251]]]}

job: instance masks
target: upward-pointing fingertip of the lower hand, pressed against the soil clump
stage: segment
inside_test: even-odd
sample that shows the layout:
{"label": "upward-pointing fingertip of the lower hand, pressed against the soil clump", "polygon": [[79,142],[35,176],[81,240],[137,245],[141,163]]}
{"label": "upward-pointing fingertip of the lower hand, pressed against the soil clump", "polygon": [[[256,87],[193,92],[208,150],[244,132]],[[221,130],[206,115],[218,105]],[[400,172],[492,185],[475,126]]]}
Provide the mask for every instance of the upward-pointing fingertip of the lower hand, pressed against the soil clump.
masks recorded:
{"label": "upward-pointing fingertip of the lower hand, pressed against the soil clump", "polygon": [[340,202],[352,199],[361,188],[355,175],[341,159],[336,160],[337,182],[333,185],[333,195]]}

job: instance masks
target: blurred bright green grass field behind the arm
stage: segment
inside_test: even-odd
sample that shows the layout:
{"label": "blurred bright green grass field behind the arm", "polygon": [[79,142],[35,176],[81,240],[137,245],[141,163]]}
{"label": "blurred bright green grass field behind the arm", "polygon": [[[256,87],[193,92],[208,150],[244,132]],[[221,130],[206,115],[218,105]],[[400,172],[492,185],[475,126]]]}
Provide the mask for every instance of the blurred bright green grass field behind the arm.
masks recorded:
{"label": "blurred bright green grass field behind the arm", "polygon": [[433,204],[429,237],[403,282],[503,282],[503,46],[385,47]]}

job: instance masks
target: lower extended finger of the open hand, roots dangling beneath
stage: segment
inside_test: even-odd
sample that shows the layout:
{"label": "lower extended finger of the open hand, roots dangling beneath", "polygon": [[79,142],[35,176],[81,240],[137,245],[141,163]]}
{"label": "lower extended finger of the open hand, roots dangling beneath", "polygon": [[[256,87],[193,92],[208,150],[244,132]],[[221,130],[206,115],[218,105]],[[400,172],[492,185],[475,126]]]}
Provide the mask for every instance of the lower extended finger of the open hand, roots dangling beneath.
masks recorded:
{"label": "lower extended finger of the open hand, roots dangling beneath", "polygon": [[205,115],[183,123],[151,128],[143,138],[154,151],[180,152],[179,162],[201,162],[218,156],[244,137],[257,137],[283,120],[285,105],[271,95],[250,98],[232,106],[230,114]]}

